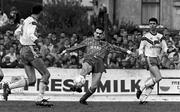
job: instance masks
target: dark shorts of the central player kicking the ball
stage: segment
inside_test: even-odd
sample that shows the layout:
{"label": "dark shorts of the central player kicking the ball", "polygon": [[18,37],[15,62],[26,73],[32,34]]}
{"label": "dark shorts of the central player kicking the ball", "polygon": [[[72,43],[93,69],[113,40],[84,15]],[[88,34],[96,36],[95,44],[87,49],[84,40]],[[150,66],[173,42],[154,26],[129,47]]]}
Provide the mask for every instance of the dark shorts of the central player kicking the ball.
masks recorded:
{"label": "dark shorts of the central player kicking the ball", "polygon": [[102,58],[98,57],[88,57],[84,59],[84,62],[87,62],[92,66],[92,73],[103,73],[106,72],[104,61]]}

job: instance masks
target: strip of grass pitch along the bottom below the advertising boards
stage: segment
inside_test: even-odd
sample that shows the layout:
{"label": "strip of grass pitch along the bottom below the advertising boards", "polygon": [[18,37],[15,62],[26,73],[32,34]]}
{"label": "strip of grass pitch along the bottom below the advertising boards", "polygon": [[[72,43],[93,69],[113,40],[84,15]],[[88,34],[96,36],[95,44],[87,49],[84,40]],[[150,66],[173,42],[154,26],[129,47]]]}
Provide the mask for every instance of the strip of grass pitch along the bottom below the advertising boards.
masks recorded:
{"label": "strip of grass pitch along the bottom below the advertising boards", "polygon": [[180,112],[180,102],[52,102],[53,107],[39,107],[32,101],[2,101],[0,112]]}

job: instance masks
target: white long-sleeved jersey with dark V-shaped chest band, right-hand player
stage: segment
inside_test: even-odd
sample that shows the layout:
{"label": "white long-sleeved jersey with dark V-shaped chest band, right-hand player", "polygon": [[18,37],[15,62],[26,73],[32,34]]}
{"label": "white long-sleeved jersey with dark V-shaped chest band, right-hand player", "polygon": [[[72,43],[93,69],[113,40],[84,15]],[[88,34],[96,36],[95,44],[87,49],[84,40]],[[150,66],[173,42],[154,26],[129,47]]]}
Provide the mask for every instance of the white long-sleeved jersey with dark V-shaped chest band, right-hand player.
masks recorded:
{"label": "white long-sleeved jersey with dark V-shaped chest band, right-hand player", "polygon": [[162,52],[167,52],[168,47],[162,34],[155,35],[148,32],[144,34],[139,46],[139,55],[144,54],[147,57],[159,57]]}

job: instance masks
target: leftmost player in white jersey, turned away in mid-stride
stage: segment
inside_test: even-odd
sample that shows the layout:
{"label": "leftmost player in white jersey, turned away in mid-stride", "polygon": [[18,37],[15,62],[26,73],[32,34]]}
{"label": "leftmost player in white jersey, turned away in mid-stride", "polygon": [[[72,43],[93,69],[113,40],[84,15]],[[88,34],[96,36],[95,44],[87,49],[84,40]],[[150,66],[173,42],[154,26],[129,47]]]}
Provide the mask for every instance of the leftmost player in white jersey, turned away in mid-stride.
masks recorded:
{"label": "leftmost player in white jersey, turned away in mid-stride", "polygon": [[24,64],[24,69],[27,78],[22,78],[17,82],[3,85],[3,97],[7,101],[10,90],[19,87],[25,87],[29,85],[35,85],[36,76],[35,69],[42,75],[39,84],[39,95],[37,97],[36,104],[40,106],[51,106],[46,99],[43,98],[46,87],[49,83],[50,73],[47,70],[43,60],[39,53],[39,42],[38,42],[38,19],[42,15],[43,7],[41,5],[35,5],[32,8],[31,16],[27,17],[23,21],[23,25],[17,28],[15,35],[20,36],[20,44],[22,48],[20,50],[20,55],[22,62]]}

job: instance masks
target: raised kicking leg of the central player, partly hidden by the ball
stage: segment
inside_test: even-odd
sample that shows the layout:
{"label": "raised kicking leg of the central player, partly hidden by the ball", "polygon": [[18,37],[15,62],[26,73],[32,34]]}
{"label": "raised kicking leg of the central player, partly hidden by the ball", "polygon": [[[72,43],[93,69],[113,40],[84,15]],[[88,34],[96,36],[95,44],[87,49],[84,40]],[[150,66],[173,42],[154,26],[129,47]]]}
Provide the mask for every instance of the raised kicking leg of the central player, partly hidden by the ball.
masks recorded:
{"label": "raised kicking leg of the central player, partly hidden by the ball", "polygon": [[[81,76],[86,77],[86,75],[89,74],[91,71],[92,71],[92,66],[89,63],[87,62],[82,63],[82,69],[80,71]],[[80,87],[76,87],[74,85],[70,88],[70,90],[82,92],[82,89]]]}

